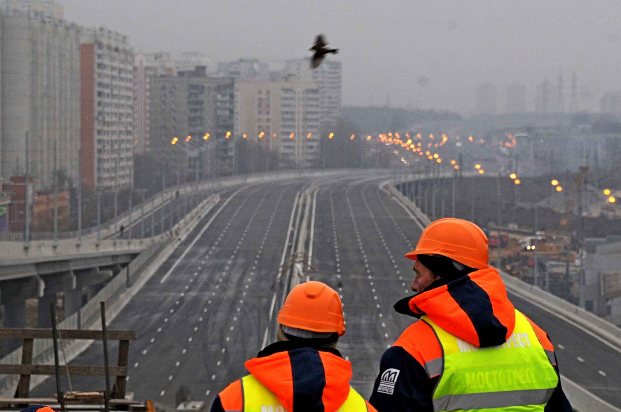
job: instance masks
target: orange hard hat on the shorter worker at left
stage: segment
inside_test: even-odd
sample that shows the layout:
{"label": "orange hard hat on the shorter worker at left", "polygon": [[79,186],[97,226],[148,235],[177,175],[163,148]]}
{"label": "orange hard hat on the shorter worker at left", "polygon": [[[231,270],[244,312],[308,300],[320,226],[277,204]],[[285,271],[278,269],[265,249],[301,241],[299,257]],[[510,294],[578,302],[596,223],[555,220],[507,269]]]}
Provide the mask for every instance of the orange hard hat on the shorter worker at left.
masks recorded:
{"label": "orange hard hat on the shorter worker at left", "polygon": [[337,291],[317,281],[291,289],[278,312],[278,322],[291,328],[345,334],[343,305]]}

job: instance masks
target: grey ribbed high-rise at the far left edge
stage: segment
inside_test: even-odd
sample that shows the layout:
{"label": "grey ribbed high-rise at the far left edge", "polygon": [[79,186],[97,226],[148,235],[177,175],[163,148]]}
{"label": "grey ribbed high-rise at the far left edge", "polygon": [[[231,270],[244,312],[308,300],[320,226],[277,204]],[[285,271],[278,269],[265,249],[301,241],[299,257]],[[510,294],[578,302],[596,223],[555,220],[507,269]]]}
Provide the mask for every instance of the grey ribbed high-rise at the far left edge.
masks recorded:
{"label": "grey ribbed high-rise at the far left edge", "polygon": [[0,177],[25,173],[29,133],[35,188],[52,186],[58,170],[78,181],[79,28],[32,10],[0,17]]}

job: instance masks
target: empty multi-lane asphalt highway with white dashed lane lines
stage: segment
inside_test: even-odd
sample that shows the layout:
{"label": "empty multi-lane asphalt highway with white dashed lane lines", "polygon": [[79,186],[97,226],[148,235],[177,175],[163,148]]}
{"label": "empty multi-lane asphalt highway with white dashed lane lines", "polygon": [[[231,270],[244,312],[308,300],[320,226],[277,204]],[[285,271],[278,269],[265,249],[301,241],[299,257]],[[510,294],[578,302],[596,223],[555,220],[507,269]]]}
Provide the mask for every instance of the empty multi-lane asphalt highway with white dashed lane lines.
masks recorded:
{"label": "empty multi-lane asphalt highway with white dashed lane lines", "polygon": [[[211,403],[245,374],[243,361],[274,340],[276,313],[289,284],[310,278],[340,292],[347,333],[339,349],[353,364],[352,385],[369,396],[381,354],[412,322],[392,304],[412,293],[412,265],[403,255],[426,224],[420,211],[383,184],[387,178],[341,173],[253,182],[220,193],[214,208],[156,262],[142,287],[118,301],[122,309],[110,326],[137,332],[127,390],[176,406],[175,392],[184,385],[194,400]],[[306,269],[302,279],[288,270],[296,259]],[[618,411],[621,344],[615,330],[610,336],[595,333],[551,299],[535,299],[545,299],[545,292],[510,286],[516,307],[555,344],[564,389],[576,410]],[[73,362],[87,361],[103,363],[101,343]],[[100,381],[81,378],[72,384],[86,390],[101,388]],[[48,379],[32,395],[54,392]]]}

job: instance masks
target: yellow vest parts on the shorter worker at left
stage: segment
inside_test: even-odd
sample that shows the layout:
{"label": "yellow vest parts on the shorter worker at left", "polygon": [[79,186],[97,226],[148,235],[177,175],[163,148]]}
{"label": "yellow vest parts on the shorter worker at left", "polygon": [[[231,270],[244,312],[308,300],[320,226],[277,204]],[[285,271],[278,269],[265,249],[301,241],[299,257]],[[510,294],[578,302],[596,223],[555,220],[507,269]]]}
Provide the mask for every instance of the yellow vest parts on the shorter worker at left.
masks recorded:
{"label": "yellow vest parts on the shorter worker at left", "polygon": [[[242,405],[243,412],[286,412],[274,392],[253,375],[242,378]],[[354,388],[350,387],[350,393],[337,412],[368,412],[366,401]]]}

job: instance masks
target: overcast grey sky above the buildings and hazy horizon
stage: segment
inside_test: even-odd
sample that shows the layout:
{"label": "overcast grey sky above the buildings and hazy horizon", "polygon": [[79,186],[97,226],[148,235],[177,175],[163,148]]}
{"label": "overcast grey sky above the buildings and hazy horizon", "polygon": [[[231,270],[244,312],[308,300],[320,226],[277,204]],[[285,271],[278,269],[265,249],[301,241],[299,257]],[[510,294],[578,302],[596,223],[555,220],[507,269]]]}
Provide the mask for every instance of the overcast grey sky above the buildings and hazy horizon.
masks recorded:
{"label": "overcast grey sky above the buildings and hazy horizon", "polygon": [[[538,1],[237,1],[58,0],[65,17],[130,36],[136,51],[204,51],[214,62],[260,58],[272,66],[308,55],[317,33],[341,49],[343,104],[422,108],[468,114],[476,84],[489,81],[504,110],[505,85],[556,83],[578,76],[581,108],[620,89],[619,0]],[[428,85],[419,85],[420,76]],[[586,99],[588,91],[591,97]]]}

